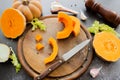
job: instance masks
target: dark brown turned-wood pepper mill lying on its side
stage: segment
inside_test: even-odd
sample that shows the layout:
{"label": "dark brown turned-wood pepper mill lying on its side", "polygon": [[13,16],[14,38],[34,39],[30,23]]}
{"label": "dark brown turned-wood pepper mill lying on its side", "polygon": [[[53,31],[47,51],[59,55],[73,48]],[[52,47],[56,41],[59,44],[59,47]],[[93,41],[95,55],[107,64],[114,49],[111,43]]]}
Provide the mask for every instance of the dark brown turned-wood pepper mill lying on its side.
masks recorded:
{"label": "dark brown turned-wood pepper mill lying on its side", "polygon": [[101,4],[96,3],[94,0],[85,0],[85,6],[88,10],[100,14],[105,20],[112,23],[115,28],[120,24],[120,15],[116,14],[116,12],[105,9]]}

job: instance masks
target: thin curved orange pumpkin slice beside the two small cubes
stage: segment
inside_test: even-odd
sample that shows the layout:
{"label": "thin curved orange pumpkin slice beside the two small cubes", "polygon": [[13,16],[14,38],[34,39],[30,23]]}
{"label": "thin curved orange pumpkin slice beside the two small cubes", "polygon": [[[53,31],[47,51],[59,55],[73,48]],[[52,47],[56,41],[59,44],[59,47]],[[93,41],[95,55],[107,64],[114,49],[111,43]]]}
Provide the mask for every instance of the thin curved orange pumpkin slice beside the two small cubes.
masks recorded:
{"label": "thin curved orange pumpkin slice beside the two small cubes", "polygon": [[49,44],[53,47],[53,52],[51,53],[49,57],[45,58],[44,60],[45,64],[52,62],[58,54],[58,45],[57,45],[56,40],[52,37],[49,38]]}

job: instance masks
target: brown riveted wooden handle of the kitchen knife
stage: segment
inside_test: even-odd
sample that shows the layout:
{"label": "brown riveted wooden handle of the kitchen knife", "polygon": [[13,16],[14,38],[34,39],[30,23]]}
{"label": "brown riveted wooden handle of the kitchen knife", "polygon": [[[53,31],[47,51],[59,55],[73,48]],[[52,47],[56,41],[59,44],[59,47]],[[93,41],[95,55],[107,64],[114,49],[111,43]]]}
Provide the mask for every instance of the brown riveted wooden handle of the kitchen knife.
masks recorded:
{"label": "brown riveted wooden handle of the kitchen knife", "polygon": [[51,73],[52,71],[54,71],[57,67],[59,67],[61,64],[63,64],[63,60],[60,59],[58,61],[56,61],[55,63],[53,63],[48,69],[45,70],[45,72],[41,73],[40,75],[38,75],[37,77],[34,78],[34,80],[42,80],[44,79],[49,73]]}

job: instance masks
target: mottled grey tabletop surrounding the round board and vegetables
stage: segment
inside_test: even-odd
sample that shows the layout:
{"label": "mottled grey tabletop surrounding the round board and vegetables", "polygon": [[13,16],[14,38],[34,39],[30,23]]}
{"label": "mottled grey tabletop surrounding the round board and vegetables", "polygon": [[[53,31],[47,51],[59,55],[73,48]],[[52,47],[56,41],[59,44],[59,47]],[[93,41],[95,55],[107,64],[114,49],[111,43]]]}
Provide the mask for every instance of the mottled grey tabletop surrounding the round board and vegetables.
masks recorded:
{"label": "mottled grey tabletop surrounding the round board and vegetables", "polygon": [[[51,2],[55,0],[41,0],[43,6],[43,16],[50,15],[50,5]],[[74,9],[78,12],[82,10],[88,17],[86,21],[81,21],[86,27],[92,25],[95,20],[108,24],[102,17],[97,16],[91,12],[86,11],[84,0],[58,0],[64,6]],[[116,11],[120,13],[120,0],[96,0],[96,2],[101,3],[105,8]],[[10,8],[12,5],[12,0],[0,0],[0,15],[6,8]],[[78,15],[79,17],[79,15]],[[108,24],[110,25],[110,24]],[[119,31],[119,30],[118,30]],[[13,47],[17,54],[17,42],[18,39],[7,39],[3,36],[0,31],[0,42],[5,43],[8,46]],[[0,53],[1,54],[1,53]],[[99,76],[93,79],[89,75],[89,71],[93,67],[103,67],[100,71]],[[33,80],[27,72],[22,68],[19,73],[15,72],[15,68],[11,64],[10,60],[5,63],[0,63],[0,80]],[[88,70],[78,77],[76,80],[120,80],[120,60],[115,63],[108,63],[96,56],[94,54],[93,61],[90,64]]]}

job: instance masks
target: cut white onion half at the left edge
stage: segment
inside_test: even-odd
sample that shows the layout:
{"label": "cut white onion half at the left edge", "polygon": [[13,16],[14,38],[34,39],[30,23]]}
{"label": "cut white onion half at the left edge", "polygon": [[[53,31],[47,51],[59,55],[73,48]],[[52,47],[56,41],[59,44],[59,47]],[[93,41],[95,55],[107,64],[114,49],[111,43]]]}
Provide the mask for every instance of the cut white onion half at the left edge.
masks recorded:
{"label": "cut white onion half at the left edge", "polygon": [[0,62],[6,62],[9,59],[10,48],[0,43]]}

